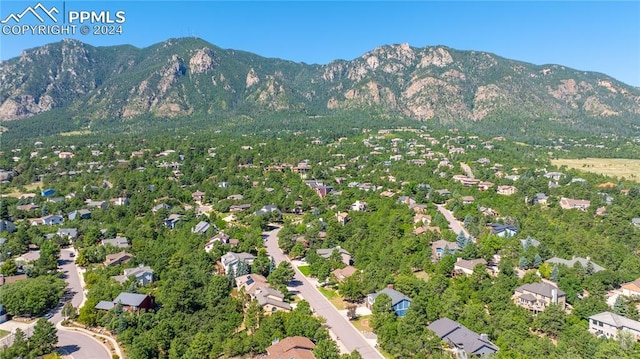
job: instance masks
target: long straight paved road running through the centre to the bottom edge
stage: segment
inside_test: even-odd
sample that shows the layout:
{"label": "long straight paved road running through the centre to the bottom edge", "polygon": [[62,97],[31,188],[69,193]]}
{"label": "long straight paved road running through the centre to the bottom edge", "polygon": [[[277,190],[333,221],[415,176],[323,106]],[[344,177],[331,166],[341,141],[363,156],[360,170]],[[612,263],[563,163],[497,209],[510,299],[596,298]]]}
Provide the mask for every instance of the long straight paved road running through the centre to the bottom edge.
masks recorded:
{"label": "long straight paved road running through the centre to the bottom edge", "polygon": [[[273,257],[276,264],[289,261],[280,248],[278,247],[278,232],[280,229],[273,230],[269,233],[269,237],[265,242],[267,251]],[[364,359],[384,359],[384,357],[375,350],[371,344],[349,323],[347,318],[343,317],[338,310],[309,283],[297,269],[293,281],[297,284],[295,290],[309,302],[311,308],[317,315],[326,319],[326,324],[331,331],[340,338],[339,341],[347,348],[348,351],[357,350]]]}

